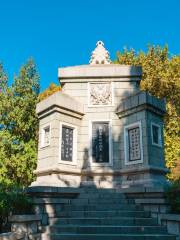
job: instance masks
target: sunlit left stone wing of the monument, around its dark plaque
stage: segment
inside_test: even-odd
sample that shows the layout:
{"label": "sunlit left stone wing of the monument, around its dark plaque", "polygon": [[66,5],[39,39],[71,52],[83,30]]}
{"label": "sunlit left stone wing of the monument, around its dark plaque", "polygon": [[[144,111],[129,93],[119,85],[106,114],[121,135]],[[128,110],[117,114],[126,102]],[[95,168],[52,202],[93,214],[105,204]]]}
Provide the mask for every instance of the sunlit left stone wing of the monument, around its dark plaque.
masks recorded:
{"label": "sunlit left stone wing of the monument, around its dark plaque", "polygon": [[[38,103],[39,117],[38,162],[35,174],[37,179],[31,186],[67,187],[79,184],[77,163],[77,139],[84,115],[83,104],[70,96],[57,92]],[[67,126],[74,132],[73,161],[71,165],[61,161],[62,129]],[[76,136],[75,136],[76,135]]]}

